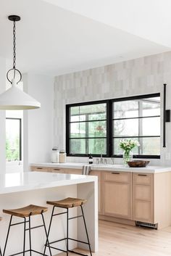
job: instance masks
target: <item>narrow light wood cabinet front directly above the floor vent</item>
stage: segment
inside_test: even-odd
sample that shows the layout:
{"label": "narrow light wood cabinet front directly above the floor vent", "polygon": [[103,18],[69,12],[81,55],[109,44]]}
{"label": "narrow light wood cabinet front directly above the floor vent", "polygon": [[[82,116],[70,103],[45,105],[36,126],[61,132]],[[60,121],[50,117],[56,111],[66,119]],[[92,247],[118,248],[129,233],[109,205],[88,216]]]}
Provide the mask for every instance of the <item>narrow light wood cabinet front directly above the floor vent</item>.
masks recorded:
{"label": "narrow light wood cabinet front directly above the floor vent", "polygon": [[133,173],[133,220],[154,223],[153,174]]}

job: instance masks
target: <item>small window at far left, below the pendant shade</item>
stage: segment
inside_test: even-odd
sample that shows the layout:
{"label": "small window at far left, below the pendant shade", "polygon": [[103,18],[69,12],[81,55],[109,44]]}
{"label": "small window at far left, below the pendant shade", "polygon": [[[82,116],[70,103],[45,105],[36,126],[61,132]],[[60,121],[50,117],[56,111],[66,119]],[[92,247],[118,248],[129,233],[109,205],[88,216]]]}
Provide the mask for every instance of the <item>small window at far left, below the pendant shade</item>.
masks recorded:
{"label": "small window at far left, below the pendant shade", "polygon": [[6,160],[22,160],[21,118],[6,117]]}

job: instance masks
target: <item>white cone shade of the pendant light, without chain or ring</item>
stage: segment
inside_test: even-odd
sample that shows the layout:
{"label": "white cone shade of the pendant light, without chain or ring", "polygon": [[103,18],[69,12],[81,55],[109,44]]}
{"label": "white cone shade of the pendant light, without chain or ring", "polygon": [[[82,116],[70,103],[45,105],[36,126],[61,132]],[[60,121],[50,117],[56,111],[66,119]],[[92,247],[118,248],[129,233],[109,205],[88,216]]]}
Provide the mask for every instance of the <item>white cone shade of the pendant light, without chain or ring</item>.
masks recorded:
{"label": "white cone shade of the pendant light, without chain or ring", "polygon": [[12,79],[12,87],[0,94],[0,110],[33,110],[39,107],[41,103],[17,88],[14,79]]}

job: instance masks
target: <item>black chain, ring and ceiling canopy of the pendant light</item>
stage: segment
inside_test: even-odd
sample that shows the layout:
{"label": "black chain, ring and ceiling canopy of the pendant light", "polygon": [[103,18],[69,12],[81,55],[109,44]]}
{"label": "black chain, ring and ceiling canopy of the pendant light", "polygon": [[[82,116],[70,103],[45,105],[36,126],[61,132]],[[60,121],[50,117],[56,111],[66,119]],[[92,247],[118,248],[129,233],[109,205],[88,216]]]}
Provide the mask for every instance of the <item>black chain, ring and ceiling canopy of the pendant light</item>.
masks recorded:
{"label": "black chain, ring and ceiling canopy of the pendant light", "polygon": [[17,81],[17,83],[20,83],[20,81],[22,80],[22,74],[20,73],[20,70],[17,70],[16,68],[16,24],[15,24],[16,21],[20,20],[20,17],[17,15],[10,15],[8,18],[13,22],[13,67],[7,72],[7,80],[9,80],[9,83],[12,83],[12,80],[9,79],[9,72],[13,71],[13,79],[14,79],[17,71],[20,75],[20,79]]}

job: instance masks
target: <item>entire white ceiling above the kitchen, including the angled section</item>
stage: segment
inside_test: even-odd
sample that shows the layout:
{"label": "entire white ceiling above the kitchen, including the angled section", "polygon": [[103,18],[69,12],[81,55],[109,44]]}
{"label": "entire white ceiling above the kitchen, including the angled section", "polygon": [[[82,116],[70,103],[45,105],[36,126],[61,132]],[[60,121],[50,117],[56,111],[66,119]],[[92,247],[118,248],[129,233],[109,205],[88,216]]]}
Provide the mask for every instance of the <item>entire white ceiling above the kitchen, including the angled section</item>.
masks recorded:
{"label": "entire white ceiling above the kitchen, including the angled section", "polygon": [[22,19],[17,22],[22,72],[59,75],[170,51],[170,2],[0,0],[0,56],[12,57],[7,20],[12,14]]}

